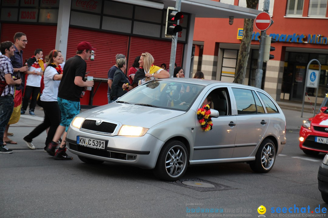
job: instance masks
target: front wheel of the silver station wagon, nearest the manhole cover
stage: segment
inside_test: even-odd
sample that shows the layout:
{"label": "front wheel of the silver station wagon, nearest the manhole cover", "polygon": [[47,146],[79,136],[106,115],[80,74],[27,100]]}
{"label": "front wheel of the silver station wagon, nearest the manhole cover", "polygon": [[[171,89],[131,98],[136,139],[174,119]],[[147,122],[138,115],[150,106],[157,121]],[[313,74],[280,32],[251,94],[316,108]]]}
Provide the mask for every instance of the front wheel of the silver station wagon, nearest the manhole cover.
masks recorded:
{"label": "front wheel of the silver station wagon, nearest the manhole cover", "polygon": [[159,179],[176,181],[185,174],[188,162],[186,146],[177,140],[168,141],[158,155],[154,175]]}

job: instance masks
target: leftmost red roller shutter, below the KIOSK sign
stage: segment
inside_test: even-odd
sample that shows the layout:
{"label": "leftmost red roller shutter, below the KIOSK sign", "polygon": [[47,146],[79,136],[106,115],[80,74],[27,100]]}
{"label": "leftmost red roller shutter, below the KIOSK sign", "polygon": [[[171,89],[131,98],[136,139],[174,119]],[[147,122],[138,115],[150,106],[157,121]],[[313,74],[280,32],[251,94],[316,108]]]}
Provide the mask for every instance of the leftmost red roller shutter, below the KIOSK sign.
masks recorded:
{"label": "leftmost red roller shutter, below the KIOSK sign", "polygon": [[32,25],[32,24],[1,24],[1,42],[14,42],[14,35],[16,32],[23,32],[26,34],[28,43],[23,49],[23,61],[34,55],[37,48],[43,50],[43,55],[46,56],[56,44],[57,26],[46,25]]}

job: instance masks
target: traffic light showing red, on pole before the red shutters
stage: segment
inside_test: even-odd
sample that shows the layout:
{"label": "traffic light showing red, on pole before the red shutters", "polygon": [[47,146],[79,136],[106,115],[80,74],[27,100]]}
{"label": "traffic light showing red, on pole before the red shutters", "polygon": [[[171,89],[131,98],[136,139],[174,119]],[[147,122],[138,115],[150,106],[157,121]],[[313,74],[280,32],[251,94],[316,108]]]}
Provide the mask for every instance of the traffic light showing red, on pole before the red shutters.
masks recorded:
{"label": "traffic light showing red, on pole before the red shutters", "polygon": [[182,31],[182,27],[178,25],[178,20],[183,18],[183,14],[175,10],[173,7],[168,7],[166,12],[165,37],[172,38],[177,32]]}

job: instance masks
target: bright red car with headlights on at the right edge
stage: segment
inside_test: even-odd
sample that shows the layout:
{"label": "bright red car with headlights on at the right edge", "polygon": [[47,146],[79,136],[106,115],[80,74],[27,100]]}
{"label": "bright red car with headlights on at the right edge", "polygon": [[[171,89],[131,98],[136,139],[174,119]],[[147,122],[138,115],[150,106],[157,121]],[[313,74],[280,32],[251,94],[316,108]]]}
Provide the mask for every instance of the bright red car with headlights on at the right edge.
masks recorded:
{"label": "bright red car with headlights on at the right edge", "polygon": [[299,131],[299,148],[308,155],[328,153],[327,107],[322,107],[315,117],[303,122]]}

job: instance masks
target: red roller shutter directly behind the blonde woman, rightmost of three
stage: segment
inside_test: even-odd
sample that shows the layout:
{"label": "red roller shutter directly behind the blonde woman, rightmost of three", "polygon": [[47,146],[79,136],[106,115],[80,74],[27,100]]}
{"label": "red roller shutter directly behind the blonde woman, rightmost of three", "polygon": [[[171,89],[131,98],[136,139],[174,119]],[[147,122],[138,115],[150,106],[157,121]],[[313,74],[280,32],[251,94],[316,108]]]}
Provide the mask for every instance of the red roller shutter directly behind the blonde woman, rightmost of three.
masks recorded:
{"label": "red roller shutter directly behind the blonde woman, rightmost of three", "polygon": [[[161,66],[162,63],[166,64],[166,67],[170,66],[171,56],[171,41],[148,39],[141,37],[131,37],[130,53],[128,60],[128,67],[133,64],[135,57],[140,56],[143,52],[149,52],[154,57],[154,64]],[[177,66],[181,66],[183,53],[183,43],[178,43],[176,46],[175,63]]]}

